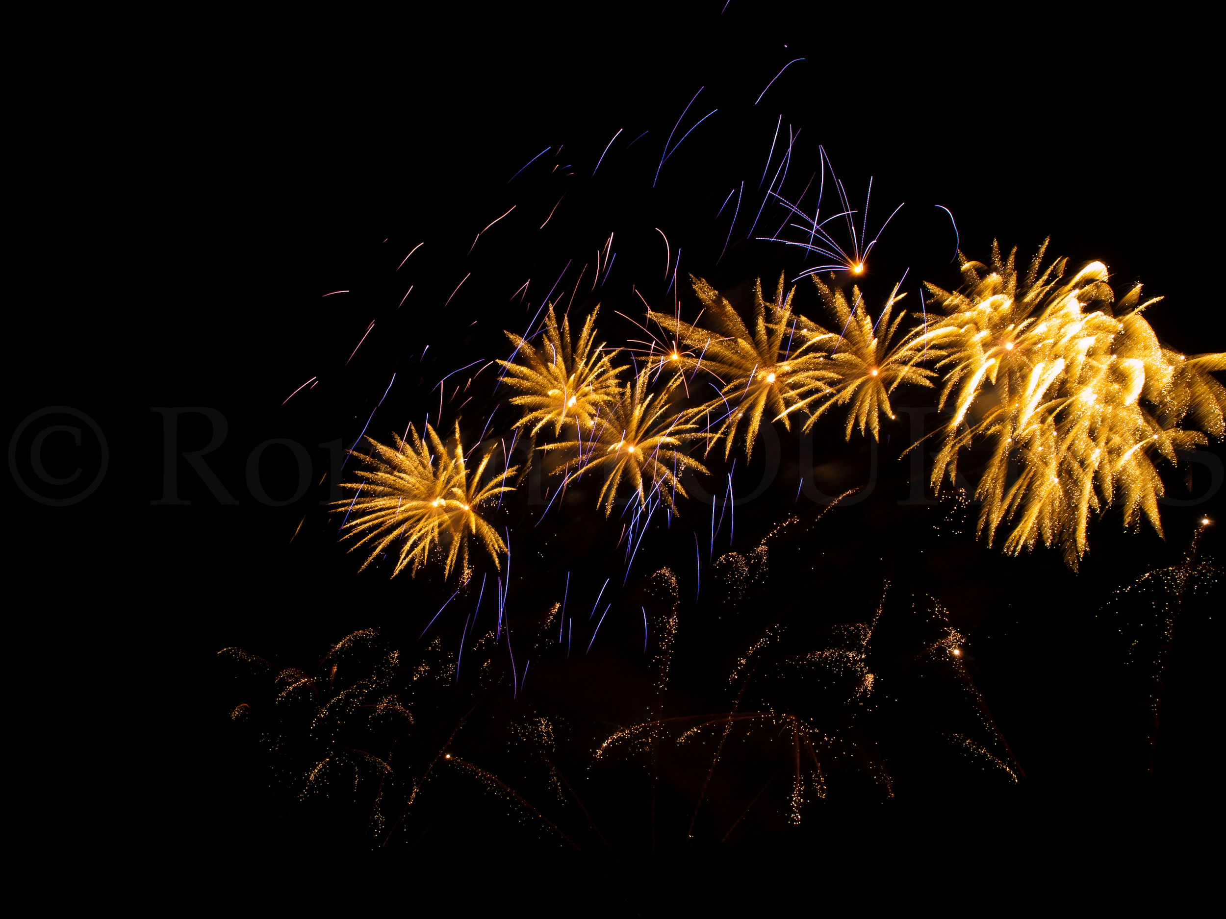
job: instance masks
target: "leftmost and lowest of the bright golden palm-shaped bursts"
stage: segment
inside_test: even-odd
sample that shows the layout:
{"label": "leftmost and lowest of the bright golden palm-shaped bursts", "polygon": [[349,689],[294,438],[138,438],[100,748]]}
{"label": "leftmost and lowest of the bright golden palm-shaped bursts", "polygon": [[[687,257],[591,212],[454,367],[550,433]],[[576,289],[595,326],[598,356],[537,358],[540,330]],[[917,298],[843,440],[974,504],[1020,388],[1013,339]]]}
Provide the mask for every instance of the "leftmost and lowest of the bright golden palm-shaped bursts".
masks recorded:
{"label": "leftmost and lowest of the bright golden palm-shaped bursts", "polygon": [[359,545],[369,548],[370,555],[362,564],[364,569],[398,543],[392,569],[395,577],[406,565],[411,566],[409,573],[416,575],[430,550],[441,551],[445,540],[449,546],[444,577],[449,577],[457,560],[461,570],[468,567],[468,535],[472,534],[485,546],[498,567],[498,556],[506,551],[506,545],[481,516],[479,509],[503,491],[512,490],[500,483],[517,467],[483,482],[490,455],[487,452],[476,471],[470,472],[459,425],[455,446],[450,451],[428,424],[425,440],[429,447],[412,426],[408,431],[412,435],[409,442],[392,434],[395,448],[367,437],[373,452],[354,453],[367,468],[357,473],[362,482],[342,483],[342,488],[356,489],[353,500],[336,505],[337,512],[346,515],[341,524],[342,529],[347,527],[343,538],[356,539],[349,551]]}

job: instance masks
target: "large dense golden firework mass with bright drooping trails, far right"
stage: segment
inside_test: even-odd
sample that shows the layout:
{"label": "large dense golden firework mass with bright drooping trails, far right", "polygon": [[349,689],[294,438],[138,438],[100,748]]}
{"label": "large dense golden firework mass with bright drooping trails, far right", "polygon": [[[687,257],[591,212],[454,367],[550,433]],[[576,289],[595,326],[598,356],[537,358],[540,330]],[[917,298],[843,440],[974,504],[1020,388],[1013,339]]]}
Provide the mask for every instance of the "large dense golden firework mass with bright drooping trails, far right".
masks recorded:
{"label": "large dense golden firework mass with bright drooping trails, far right", "polygon": [[[1016,517],[1005,551],[1041,538],[1059,544],[1076,567],[1091,515],[1117,500],[1125,527],[1144,515],[1162,532],[1152,455],[1176,463],[1177,448],[1206,442],[1178,426],[1184,419],[1221,436],[1226,390],[1209,371],[1226,368],[1226,355],[1163,348],[1139,315],[1160,298],[1141,303],[1138,284],[1114,303],[1101,262],[1062,281],[1067,260],[1040,271],[1041,248],[1019,276],[1015,254],[1002,260],[993,245],[991,266],[964,259],[960,292],[929,284],[948,315],[906,343],[935,354],[944,369],[940,406],[954,399],[932,482],[953,482],[959,452],[976,437],[988,440],[992,456],[976,489],[978,533],[991,545],[1003,521]],[[967,422],[977,401],[988,401],[988,386],[996,406]]]}

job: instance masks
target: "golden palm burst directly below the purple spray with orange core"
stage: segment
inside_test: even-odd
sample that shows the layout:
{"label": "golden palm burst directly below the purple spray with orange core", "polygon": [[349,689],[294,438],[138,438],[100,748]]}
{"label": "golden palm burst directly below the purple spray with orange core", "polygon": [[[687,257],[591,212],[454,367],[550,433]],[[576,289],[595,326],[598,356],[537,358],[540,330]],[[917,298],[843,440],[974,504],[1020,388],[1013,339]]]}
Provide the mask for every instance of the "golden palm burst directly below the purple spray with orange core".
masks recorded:
{"label": "golden palm burst directly below the purple spray with orange core", "polygon": [[894,418],[890,393],[905,382],[931,387],[929,380],[935,376],[932,370],[916,366],[922,359],[922,353],[917,350],[915,342],[904,339],[896,348],[890,348],[906,311],[899,310],[893,322],[890,315],[894,305],[905,294],[900,294],[899,286],[895,284],[881,315],[874,321],[864,306],[859,288],[852,287],[852,304],[848,304],[842,290],[826,287],[815,276],[813,281],[818,286],[826,312],[837,322],[841,331],[831,332],[804,316],[798,316],[797,331],[804,338],[801,350],[808,352],[807,357],[820,360],[820,365],[829,374],[828,379],[832,382],[824,392],[801,399],[788,407],[787,412],[799,409],[809,412],[809,420],[804,424],[807,433],[831,406],[851,403],[845,430],[847,440],[851,440],[851,430],[857,424],[861,434],[868,428],[877,439],[879,417],[884,414]]}

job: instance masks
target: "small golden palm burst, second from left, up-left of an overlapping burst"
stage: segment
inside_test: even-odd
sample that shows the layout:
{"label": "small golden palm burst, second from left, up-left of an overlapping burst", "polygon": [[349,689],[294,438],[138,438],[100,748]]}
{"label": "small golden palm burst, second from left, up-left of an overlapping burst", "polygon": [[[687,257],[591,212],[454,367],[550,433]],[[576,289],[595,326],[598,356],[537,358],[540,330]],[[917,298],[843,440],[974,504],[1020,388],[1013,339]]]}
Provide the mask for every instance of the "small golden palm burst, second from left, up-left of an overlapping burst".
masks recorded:
{"label": "small golden palm burst, second from left, up-left of an overlapping burst", "polygon": [[[592,428],[598,412],[619,397],[617,375],[623,368],[609,361],[611,353],[604,346],[592,347],[596,335],[596,310],[584,322],[579,341],[571,344],[570,319],[562,317],[562,327],[549,306],[544,321],[544,341],[533,346],[520,336],[506,332],[515,344],[511,360],[499,360],[505,368],[505,381],[524,395],[511,399],[524,417],[516,428],[531,425],[528,436],[553,424],[554,436],[568,423],[580,428]],[[519,360],[516,360],[516,358]]]}

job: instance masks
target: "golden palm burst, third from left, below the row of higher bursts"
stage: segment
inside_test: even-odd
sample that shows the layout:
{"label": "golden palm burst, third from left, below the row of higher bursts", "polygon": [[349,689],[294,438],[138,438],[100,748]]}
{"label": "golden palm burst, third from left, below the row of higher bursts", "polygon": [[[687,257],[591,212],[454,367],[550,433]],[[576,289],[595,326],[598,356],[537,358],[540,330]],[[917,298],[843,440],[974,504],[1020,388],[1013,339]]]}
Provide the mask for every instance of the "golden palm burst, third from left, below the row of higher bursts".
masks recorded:
{"label": "golden palm burst, third from left, below the row of higher bursts", "polygon": [[[649,393],[652,373],[652,368],[644,368],[634,386],[622,390],[620,399],[586,437],[580,426],[575,440],[542,447],[565,451],[574,457],[571,462],[577,468],[566,477],[564,485],[586,472],[602,469],[606,473],[604,486],[596,499],[597,505],[604,504],[606,517],[613,510],[623,479],[638,494],[640,506],[658,493],[660,500],[677,513],[676,495],[687,496],[682,473],[687,468],[707,472],[679,448],[704,436],[694,430],[696,425],[687,423],[684,413],[669,406],[668,397],[680,384],[680,376],[674,376],[658,392]],[[658,370],[655,373],[658,376]],[[569,469],[570,463],[565,468]]]}

